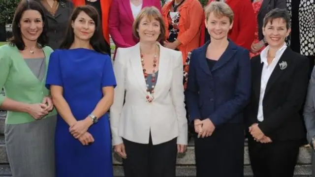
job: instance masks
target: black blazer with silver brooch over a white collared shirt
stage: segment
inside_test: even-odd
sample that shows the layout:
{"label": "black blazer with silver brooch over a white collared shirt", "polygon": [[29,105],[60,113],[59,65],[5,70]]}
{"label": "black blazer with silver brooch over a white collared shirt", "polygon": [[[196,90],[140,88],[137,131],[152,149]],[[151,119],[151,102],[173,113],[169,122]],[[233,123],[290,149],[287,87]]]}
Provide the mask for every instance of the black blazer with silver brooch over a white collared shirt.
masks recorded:
{"label": "black blazer with silver brooch over a white collared shirt", "polygon": [[[280,69],[280,63],[287,67]],[[308,85],[309,61],[287,47],[272,72],[263,98],[264,120],[258,122],[258,103],[263,63],[260,56],[252,58],[252,94],[245,109],[247,127],[258,123],[261,131],[273,141],[296,140],[305,137],[299,111],[305,100]],[[247,128],[248,132],[248,128]]]}

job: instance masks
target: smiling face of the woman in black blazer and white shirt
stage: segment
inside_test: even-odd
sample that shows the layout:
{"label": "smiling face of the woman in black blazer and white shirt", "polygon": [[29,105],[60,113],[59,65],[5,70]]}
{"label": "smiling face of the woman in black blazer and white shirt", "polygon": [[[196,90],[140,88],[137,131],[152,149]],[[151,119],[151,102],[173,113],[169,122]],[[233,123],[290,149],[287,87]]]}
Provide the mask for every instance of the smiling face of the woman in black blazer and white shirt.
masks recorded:
{"label": "smiling face of the woman in black blazer and white shirt", "polygon": [[270,20],[262,29],[263,35],[270,47],[280,48],[285,37],[290,34],[291,29],[286,28],[286,23],[283,18]]}

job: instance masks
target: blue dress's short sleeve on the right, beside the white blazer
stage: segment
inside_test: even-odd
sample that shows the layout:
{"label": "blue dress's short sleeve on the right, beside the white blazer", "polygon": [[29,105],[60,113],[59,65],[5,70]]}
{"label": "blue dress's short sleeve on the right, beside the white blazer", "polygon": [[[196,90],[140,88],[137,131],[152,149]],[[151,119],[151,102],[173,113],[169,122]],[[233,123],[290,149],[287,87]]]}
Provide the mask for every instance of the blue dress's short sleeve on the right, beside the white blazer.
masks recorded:
{"label": "blue dress's short sleeve on the right, beside the white blazer", "polygon": [[116,79],[113,70],[113,64],[111,59],[108,55],[106,55],[106,61],[103,68],[103,75],[102,75],[102,88],[103,87],[116,87]]}

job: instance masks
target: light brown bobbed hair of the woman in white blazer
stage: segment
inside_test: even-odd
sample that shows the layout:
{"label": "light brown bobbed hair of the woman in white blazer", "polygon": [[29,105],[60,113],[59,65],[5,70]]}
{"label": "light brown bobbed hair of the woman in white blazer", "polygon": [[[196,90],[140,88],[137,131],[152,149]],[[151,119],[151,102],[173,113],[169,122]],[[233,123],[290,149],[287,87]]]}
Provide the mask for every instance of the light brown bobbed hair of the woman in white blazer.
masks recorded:
{"label": "light brown bobbed hair of the woman in white blazer", "polygon": [[158,36],[158,41],[164,40],[165,31],[166,31],[164,20],[161,13],[158,11],[158,8],[154,6],[145,7],[140,11],[140,13],[138,14],[137,18],[134,20],[133,25],[132,25],[133,35],[139,38],[139,33],[137,29],[139,28],[140,21],[145,17],[151,20],[152,19],[157,20],[159,22],[161,33]]}

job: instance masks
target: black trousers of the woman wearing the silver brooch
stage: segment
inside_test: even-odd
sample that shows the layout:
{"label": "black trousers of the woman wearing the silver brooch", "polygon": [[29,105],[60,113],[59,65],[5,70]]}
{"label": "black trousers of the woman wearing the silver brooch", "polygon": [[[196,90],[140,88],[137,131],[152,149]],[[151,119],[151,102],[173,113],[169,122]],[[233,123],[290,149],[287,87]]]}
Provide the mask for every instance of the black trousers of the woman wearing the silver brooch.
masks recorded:
{"label": "black trousers of the woman wearing the silver brooch", "polygon": [[254,177],[293,177],[301,140],[261,144],[249,138]]}

